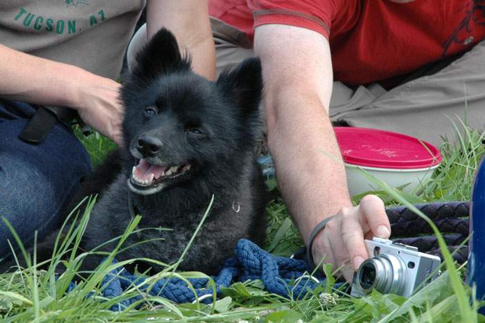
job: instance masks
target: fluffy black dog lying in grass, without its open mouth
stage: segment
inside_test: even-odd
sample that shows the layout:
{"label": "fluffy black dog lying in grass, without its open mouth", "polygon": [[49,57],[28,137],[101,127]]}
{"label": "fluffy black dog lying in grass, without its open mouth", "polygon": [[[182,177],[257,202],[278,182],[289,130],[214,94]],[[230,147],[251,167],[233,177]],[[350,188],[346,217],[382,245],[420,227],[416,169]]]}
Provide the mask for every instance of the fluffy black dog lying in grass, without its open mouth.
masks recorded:
{"label": "fluffy black dog lying in grass, without its open mouth", "polygon": [[[166,264],[177,261],[212,195],[209,216],[180,270],[213,274],[224,259],[231,257],[238,239],[263,244],[267,195],[254,154],[261,127],[258,104],[262,86],[257,58],[245,60],[210,82],[191,71],[190,60],[179,53],[175,37],[168,30],[159,31],[137,57],[137,65],[121,89],[126,107],[125,148],[109,156],[71,203],[76,205],[87,194],[100,194],[81,249],[91,250],[123,234],[132,219],[130,190],[134,208],[142,216],[139,229],[161,227],[172,231],[142,230],[140,237],[131,234],[123,247],[142,240],[164,241],[128,248],[116,255],[118,261],[139,257]],[[147,142],[157,145],[154,148]],[[132,167],[140,159],[152,165],[191,167],[148,189],[137,185],[132,177]],[[37,262],[51,257],[57,234],[39,245],[37,255],[41,259]],[[115,245],[109,243],[100,250],[111,251]],[[101,256],[87,257],[82,268],[92,270],[101,260]]]}

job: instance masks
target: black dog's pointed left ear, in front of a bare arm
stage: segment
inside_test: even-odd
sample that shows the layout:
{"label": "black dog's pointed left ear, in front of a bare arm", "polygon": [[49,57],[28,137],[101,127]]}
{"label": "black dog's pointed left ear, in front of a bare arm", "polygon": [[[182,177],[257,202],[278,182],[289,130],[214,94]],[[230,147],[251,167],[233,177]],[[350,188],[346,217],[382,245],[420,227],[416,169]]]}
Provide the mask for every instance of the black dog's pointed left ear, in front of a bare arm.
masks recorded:
{"label": "black dog's pointed left ear, in front of a bare arm", "polygon": [[177,39],[170,30],[161,28],[136,55],[132,74],[142,80],[152,80],[173,71],[188,71],[191,61],[182,57]]}

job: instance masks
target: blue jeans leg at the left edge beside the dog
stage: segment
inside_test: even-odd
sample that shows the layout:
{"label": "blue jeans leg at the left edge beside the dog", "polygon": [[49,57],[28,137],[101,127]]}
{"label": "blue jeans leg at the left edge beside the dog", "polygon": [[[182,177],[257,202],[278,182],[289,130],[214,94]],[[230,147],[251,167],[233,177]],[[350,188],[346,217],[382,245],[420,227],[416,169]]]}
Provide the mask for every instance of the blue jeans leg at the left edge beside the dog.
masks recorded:
{"label": "blue jeans leg at the left edge beside the dog", "polygon": [[[0,100],[0,216],[22,242],[33,243],[59,227],[62,209],[91,172],[89,155],[67,124],[58,122],[38,145],[18,138],[35,109],[24,102]],[[17,247],[0,221],[0,259]]]}

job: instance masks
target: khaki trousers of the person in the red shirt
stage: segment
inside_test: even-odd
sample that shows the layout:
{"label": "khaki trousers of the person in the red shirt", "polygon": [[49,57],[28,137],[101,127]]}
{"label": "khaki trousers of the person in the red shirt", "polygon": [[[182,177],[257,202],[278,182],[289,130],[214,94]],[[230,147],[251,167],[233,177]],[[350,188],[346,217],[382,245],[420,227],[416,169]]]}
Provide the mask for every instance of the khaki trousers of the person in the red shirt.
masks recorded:
{"label": "khaki trousers of the person in the red shirt", "polygon": [[[254,56],[240,30],[211,18],[218,74]],[[128,47],[128,66],[146,42],[146,26]],[[333,82],[330,120],[335,124],[407,133],[434,145],[452,140],[453,122],[485,130],[485,41],[432,75],[417,77],[386,91],[377,83],[349,87]]]}

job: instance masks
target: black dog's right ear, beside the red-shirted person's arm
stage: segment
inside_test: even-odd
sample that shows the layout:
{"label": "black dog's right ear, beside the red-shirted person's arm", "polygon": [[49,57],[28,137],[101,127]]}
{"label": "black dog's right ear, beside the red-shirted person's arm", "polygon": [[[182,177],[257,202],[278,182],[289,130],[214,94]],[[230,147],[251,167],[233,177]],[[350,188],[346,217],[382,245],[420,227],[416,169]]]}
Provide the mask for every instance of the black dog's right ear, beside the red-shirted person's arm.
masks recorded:
{"label": "black dog's right ear, beside the red-shirted person's arm", "polygon": [[232,71],[222,73],[217,84],[224,92],[230,93],[233,102],[246,116],[258,112],[263,93],[260,59],[245,59]]}

